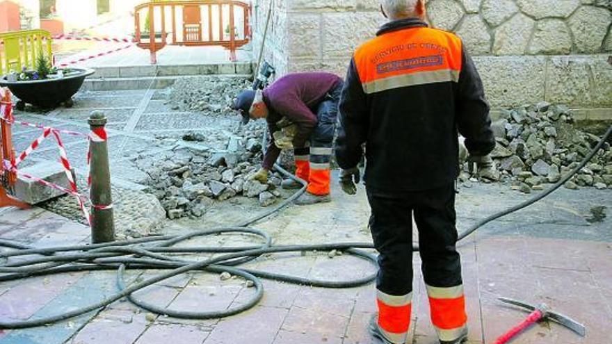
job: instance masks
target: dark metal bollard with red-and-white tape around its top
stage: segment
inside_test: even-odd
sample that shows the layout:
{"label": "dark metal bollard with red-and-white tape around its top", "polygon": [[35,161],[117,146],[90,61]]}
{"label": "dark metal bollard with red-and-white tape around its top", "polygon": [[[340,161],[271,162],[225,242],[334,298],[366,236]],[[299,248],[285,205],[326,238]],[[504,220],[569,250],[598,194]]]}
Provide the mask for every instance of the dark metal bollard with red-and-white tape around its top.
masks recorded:
{"label": "dark metal bollard with red-and-white tape around its top", "polygon": [[91,241],[108,243],[115,241],[113,199],[111,196],[111,169],[108,165],[106,144],[106,116],[102,111],[93,111],[89,117],[90,133],[90,178],[91,191]]}

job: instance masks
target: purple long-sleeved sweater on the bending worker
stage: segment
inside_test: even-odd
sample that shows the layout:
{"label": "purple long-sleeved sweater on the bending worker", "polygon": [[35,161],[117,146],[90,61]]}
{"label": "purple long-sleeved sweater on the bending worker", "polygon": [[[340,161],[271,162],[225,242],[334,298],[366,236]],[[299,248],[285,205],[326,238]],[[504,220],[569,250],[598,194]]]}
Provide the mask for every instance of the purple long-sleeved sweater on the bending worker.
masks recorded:
{"label": "purple long-sleeved sweater on the bending worker", "polygon": [[[270,134],[278,131],[276,123],[287,117],[287,120],[298,126],[298,133],[293,138],[293,147],[304,147],[306,140],[316,127],[316,106],[323,97],[340,81],[340,77],[325,72],[287,74],[264,90],[264,101],[268,106],[268,128]],[[264,168],[270,170],[280,155],[280,149],[274,145],[274,138],[266,156]]]}

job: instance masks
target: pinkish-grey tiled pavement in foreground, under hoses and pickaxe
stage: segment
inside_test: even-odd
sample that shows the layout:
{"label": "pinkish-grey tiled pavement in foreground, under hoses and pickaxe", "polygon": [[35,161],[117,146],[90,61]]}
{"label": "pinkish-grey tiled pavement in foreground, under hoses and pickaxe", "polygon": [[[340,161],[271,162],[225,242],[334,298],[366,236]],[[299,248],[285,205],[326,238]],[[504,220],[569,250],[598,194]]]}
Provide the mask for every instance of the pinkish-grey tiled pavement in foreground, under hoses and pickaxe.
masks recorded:
{"label": "pinkish-grey tiled pavement in foreground, under hoses and pickaxe", "polygon": [[[292,206],[255,227],[271,233],[280,244],[369,240],[364,231],[368,207],[362,190],[358,197],[346,197],[337,190],[333,196],[332,204]],[[507,186],[462,188],[458,197],[459,227],[517,204],[524,197],[509,192]],[[599,204],[612,207],[609,190],[559,190],[533,208],[489,224],[460,244],[469,343],[492,343],[526,315],[497,302],[498,296],[546,302],[588,329],[586,338],[579,338],[563,327],[543,322],[513,343],[610,343],[611,220],[599,224],[584,220],[588,208]],[[36,208],[5,210],[0,238],[19,238],[35,246],[78,243],[88,240],[88,229]],[[208,245],[220,243],[218,237],[199,240]],[[245,241],[232,236],[223,245]],[[433,344],[436,340],[417,255],[413,263],[414,314],[408,343]],[[373,271],[364,261],[346,254],[329,259],[325,252],[266,256],[246,266],[336,280]],[[144,272],[146,276],[155,273]],[[130,272],[129,276],[133,279],[139,274]],[[92,272],[3,282],[0,319],[48,316],[90,304],[115,291],[114,278],[113,272]],[[325,289],[264,280],[264,288],[264,299],[254,309],[220,320],[152,316],[119,301],[102,311],[53,326],[4,332],[0,343],[372,343],[365,325],[375,311],[373,285]],[[190,273],[160,282],[137,296],[170,309],[202,311],[241,304],[251,294],[252,289],[245,288],[241,279],[220,281],[218,275]]]}

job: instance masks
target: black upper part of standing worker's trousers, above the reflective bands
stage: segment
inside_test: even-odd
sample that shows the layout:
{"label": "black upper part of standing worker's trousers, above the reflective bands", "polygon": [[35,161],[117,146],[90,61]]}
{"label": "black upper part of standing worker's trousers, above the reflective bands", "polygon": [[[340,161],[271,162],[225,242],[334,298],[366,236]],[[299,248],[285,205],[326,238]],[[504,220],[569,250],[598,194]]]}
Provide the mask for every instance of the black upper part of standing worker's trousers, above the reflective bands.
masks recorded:
{"label": "black upper part of standing worker's trousers, above the reflective bands", "polygon": [[[367,186],[366,186],[367,187]],[[455,185],[410,193],[367,190],[369,227],[378,256],[376,287],[389,295],[412,291],[412,214],[419,230],[421,270],[428,286],[462,284],[456,250]]]}

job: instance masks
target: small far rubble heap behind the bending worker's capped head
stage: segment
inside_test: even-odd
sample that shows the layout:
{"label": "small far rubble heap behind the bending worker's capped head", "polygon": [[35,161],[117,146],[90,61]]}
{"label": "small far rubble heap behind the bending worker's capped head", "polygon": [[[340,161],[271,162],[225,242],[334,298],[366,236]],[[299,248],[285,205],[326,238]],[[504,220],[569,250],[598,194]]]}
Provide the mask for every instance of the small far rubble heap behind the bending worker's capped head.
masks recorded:
{"label": "small far rubble heap behind the bending worker's capped head", "polygon": [[170,90],[169,101],[175,110],[236,115],[230,106],[241,90],[250,87],[251,81],[238,76],[179,78]]}

